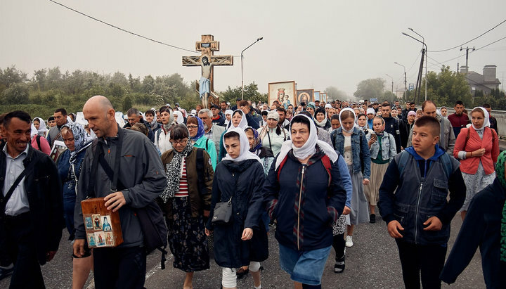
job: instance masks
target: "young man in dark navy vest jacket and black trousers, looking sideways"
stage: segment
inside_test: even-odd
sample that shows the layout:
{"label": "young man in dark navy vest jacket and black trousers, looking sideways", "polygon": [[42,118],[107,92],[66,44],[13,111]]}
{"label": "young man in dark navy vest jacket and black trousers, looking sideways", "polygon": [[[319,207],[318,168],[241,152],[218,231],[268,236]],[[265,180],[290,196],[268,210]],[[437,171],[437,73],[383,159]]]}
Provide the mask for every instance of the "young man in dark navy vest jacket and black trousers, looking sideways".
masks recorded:
{"label": "young man in dark navy vest jacket and black trousers, looking sideways", "polygon": [[437,146],[439,130],[434,117],[420,117],[413,147],[390,162],[380,187],[378,207],[396,239],[406,288],[420,288],[420,271],[424,288],[441,287],[450,221],[465,200],[459,162]]}

